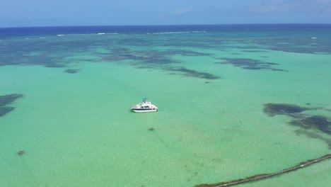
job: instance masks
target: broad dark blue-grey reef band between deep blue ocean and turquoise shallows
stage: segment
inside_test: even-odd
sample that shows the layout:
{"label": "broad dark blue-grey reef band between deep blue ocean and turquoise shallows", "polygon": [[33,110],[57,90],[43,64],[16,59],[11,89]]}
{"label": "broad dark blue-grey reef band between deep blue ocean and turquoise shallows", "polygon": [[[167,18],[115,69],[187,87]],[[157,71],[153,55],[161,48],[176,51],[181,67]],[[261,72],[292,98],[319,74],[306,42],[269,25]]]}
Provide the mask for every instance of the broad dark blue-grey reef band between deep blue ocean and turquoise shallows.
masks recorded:
{"label": "broad dark blue-grey reef band between deep blue ocean and turquoise shallows", "polygon": [[[109,50],[112,48],[126,49],[145,49],[146,54],[154,53],[168,59],[171,55],[183,56],[210,56],[212,54],[202,52],[201,49],[218,50],[233,52],[232,55],[238,54],[238,50],[244,52],[268,52],[270,50],[282,52],[299,52],[309,54],[331,54],[330,40],[312,40],[310,36],[303,35],[266,35],[265,37],[255,37],[250,35],[237,35],[229,33],[229,37],[219,35],[219,32],[209,32],[208,35],[202,33],[199,37],[192,37],[196,33],[187,35],[91,35],[91,38],[85,38],[83,35],[71,35],[69,37],[54,38],[21,38],[18,40],[2,40],[0,46],[0,66],[2,65],[41,65],[46,67],[63,67],[71,64],[73,61],[70,57],[81,55],[86,51],[93,52],[91,56],[99,57],[100,51],[96,49],[103,48]],[[82,37],[82,38],[81,38]],[[240,43],[240,45],[238,45]],[[24,46],[24,47],[22,47]],[[137,46],[137,47],[132,47]],[[164,49],[169,47],[169,50]],[[158,48],[160,47],[160,48]],[[193,49],[194,50],[187,50]],[[156,50],[149,50],[156,49]],[[134,52],[127,50],[127,52]],[[139,52],[137,50],[137,52]],[[106,52],[103,52],[106,53]],[[121,55],[123,50],[113,50],[112,54],[103,54],[106,59],[124,60],[131,58],[132,55]],[[69,57],[69,58],[68,58]],[[83,57],[84,58],[84,57]],[[144,59],[142,57],[141,59]],[[83,61],[83,60],[81,60]],[[77,62],[77,61],[76,61]],[[100,62],[99,59],[93,62]],[[174,62],[170,59],[169,62]]]}

